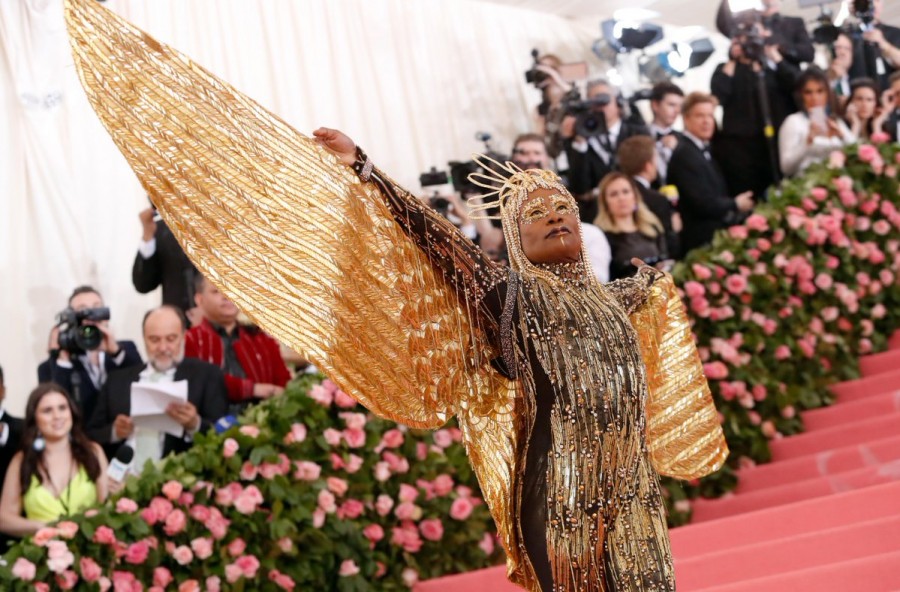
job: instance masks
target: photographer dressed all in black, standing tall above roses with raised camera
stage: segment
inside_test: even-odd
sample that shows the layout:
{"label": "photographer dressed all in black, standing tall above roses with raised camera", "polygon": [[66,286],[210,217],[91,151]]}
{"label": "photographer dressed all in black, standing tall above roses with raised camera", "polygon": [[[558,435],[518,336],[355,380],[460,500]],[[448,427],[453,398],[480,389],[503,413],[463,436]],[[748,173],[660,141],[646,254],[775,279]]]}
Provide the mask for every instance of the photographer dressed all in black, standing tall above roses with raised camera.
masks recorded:
{"label": "photographer dressed all in black, standing tall above roses with raised camera", "polygon": [[752,191],[757,200],[778,180],[774,138],[796,110],[793,91],[800,74],[770,39],[758,22],[745,23],[731,41],[729,61],[716,68],[710,82],[722,105],[722,129],[712,149],[728,192]]}

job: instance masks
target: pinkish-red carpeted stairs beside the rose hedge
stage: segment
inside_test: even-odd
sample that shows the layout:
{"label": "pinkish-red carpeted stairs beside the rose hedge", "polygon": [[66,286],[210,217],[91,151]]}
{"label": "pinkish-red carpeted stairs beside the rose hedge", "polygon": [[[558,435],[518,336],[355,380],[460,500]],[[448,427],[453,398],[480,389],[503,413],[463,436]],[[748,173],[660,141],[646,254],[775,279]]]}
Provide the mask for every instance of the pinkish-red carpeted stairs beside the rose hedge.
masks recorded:
{"label": "pinkish-red carpeted stairs beside the rose hedge", "polygon": [[[900,339],[835,385],[806,432],[772,442],[734,494],[697,500],[671,533],[679,592],[900,590]],[[505,569],[423,582],[417,592],[512,592]]]}

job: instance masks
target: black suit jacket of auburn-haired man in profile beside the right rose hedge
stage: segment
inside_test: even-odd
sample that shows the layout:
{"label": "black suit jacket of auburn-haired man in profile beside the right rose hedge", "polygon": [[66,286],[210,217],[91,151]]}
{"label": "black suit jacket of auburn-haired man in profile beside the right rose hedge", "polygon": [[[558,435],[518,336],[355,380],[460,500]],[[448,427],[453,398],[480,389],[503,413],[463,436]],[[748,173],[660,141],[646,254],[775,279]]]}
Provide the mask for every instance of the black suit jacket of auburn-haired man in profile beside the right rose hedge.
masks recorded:
{"label": "black suit jacket of auburn-haired man in profile beside the right rose hedge", "polygon": [[707,160],[690,138],[678,142],[672,152],[668,181],[678,187],[678,210],[684,224],[682,255],[708,243],[716,230],[740,219],[737,204],[728,195],[718,165]]}

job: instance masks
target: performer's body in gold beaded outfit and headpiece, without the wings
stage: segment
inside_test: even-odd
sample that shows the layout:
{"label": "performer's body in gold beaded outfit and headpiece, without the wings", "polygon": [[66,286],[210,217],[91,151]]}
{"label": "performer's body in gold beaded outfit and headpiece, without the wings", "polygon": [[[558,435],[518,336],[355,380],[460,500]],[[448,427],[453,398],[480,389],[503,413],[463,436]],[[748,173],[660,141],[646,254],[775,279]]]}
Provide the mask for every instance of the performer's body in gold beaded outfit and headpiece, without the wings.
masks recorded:
{"label": "performer's body in gold beaded outfit and headpiece, without the wings", "polygon": [[[656,473],[644,435],[647,381],[628,315],[662,274],[643,267],[601,286],[578,205],[555,173],[500,170],[496,192],[511,269],[374,168],[346,135],[313,135],[374,183],[396,222],[477,317],[521,385],[513,512],[535,590],[675,589]],[[490,163],[486,163],[490,164]],[[505,177],[505,178],[504,178]],[[490,176],[473,181],[491,186]],[[476,206],[477,207],[477,206]]]}

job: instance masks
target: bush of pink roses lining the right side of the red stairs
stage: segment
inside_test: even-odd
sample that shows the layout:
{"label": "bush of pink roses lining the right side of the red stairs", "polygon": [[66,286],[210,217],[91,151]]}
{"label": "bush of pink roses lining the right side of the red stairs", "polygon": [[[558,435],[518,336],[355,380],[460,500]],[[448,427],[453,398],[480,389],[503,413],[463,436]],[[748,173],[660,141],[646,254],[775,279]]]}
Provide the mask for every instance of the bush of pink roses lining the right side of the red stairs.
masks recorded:
{"label": "bush of pink roses lining the right side of the red stairs", "polygon": [[687,488],[666,481],[671,518],[687,498],[734,487],[733,468],[769,459],[831,402],[900,321],[900,197],[895,144],[861,144],[786,181],[743,225],[675,270],[731,448],[730,467]]}

